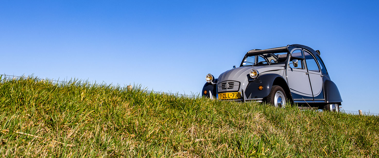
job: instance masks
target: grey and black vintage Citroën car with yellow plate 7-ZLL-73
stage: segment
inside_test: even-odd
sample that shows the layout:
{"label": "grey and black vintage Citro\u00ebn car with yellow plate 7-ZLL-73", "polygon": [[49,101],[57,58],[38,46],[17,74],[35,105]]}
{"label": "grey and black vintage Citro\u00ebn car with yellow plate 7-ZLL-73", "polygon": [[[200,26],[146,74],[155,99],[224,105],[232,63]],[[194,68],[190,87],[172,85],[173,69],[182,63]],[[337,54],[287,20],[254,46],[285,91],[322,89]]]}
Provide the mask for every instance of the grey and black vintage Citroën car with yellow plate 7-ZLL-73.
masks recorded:
{"label": "grey and black vintage Citro\u00ebn car with yellow plate 7-ZLL-73", "polygon": [[341,95],[330,80],[319,50],[293,44],[246,53],[240,67],[215,78],[208,74],[202,95],[211,99],[267,102],[285,107],[340,111]]}

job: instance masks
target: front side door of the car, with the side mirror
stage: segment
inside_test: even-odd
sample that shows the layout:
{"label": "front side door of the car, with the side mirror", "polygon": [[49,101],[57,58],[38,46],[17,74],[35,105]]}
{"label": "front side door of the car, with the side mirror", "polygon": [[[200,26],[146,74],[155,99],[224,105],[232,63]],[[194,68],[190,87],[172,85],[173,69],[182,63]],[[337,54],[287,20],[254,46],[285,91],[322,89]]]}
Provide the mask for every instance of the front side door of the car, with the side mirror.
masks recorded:
{"label": "front side door of the car, with the side mirror", "polygon": [[[290,53],[286,75],[291,95],[294,101],[313,100],[308,71],[305,67],[304,52],[302,48],[293,48]],[[298,59],[297,67],[294,66],[293,59]]]}

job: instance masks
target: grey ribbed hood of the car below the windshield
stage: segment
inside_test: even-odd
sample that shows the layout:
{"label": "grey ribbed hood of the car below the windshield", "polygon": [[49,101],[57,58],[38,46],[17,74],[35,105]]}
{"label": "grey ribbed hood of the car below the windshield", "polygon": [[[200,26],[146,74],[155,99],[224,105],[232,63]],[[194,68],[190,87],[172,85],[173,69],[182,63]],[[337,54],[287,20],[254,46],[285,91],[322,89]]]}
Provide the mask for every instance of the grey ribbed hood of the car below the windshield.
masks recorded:
{"label": "grey ribbed hood of the car below the windshield", "polygon": [[242,81],[242,80],[247,80],[247,75],[250,74],[250,71],[252,69],[257,70],[259,74],[262,74],[262,73],[268,72],[268,71],[283,70],[284,69],[284,64],[280,64],[280,65],[268,65],[268,66],[241,66],[241,67],[237,67],[235,69],[230,69],[230,70],[227,70],[226,72],[223,72],[218,77],[218,81],[225,81],[225,80]]}

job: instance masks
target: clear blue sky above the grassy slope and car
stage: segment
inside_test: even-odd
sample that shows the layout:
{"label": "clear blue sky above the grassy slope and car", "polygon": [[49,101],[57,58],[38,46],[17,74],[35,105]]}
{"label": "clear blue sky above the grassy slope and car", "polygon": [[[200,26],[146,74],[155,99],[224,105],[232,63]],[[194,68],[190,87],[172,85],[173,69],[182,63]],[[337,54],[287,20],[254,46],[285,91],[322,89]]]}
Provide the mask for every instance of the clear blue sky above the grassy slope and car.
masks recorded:
{"label": "clear blue sky above the grassy slope and car", "polygon": [[251,49],[321,51],[345,110],[379,113],[378,1],[0,1],[0,73],[198,93]]}

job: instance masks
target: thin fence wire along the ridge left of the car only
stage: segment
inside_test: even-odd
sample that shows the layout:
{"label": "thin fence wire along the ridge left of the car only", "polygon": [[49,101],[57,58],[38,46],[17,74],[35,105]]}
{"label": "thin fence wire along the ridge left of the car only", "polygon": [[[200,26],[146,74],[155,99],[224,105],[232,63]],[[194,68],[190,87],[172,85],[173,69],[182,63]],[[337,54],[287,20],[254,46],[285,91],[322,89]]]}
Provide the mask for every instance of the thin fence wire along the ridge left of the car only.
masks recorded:
{"label": "thin fence wire along the ridge left of the car only", "polygon": [[[14,78],[28,78],[28,77],[25,77],[25,76],[15,76],[15,75],[6,75],[6,74],[4,74],[2,76],[8,76],[9,78],[10,77],[14,77]],[[2,80],[5,80],[8,77],[2,78]],[[59,82],[61,82],[61,83],[75,83],[76,81],[78,81],[78,80],[75,80],[75,79],[74,79],[74,82],[62,81],[62,80],[61,81],[60,80],[50,80],[50,79],[43,79],[43,78],[33,78],[33,79],[57,82],[55,84],[58,84]],[[89,83],[81,83],[81,84],[83,84],[83,85],[89,85],[89,86],[99,86],[100,85],[100,84],[89,84]],[[121,87],[121,86],[110,86],[110,85],[108,85],[108,87],[109,88],[115,88],[115,89],[126,88],[126,87]],[[147,89],[144,89],[143,91],[144,92],[159,93],[159,94],[171,94],[171,95],[185,96],[185,97],[200,97],[200,95],[188,95],[188,94],[179,94],[179,93],[172,93],[172,92],[160,92],[160,91],[153,91],[153,90],[150,91],[150,90],[147,90]]]}

